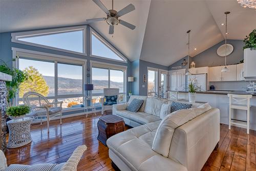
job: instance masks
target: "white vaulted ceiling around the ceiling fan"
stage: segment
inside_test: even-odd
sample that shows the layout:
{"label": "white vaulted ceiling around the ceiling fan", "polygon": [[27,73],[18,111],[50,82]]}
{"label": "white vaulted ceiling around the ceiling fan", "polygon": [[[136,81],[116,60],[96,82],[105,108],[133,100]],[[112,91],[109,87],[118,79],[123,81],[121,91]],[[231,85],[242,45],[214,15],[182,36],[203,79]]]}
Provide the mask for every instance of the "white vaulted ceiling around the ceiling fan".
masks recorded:
{"label": "white vaulted ceiling around the ceiling fan", "polygon": [[[102,3],[111,8],[111,1]],[[231,12],[229,39],[243,39],[256,28],[256,11],[241,7],[236,0],[116,0],[114,9],[130,3],[136,10],[120,18],[135,25],[135,30],[116,26],[112,37],[106,23],[91,25],[130,60],[171,65],[187,55],[189,29],[191,56],[197,55],[224,39],[225,11]],[[105,14],[91,0],[0,1],[0,32],[83,25],[86,19],[97,17]]]}

